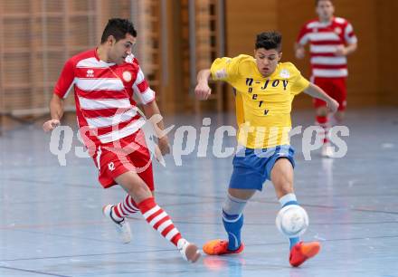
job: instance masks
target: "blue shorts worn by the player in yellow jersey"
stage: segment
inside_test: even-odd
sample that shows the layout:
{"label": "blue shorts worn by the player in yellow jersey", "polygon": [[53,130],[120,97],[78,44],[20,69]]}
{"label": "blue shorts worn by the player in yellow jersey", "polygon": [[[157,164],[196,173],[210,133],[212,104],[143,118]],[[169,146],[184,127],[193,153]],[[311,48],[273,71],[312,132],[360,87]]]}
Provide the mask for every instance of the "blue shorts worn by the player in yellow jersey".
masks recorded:
{"label": "blue shorts worn by the player in yellow jersey", "polygon": [[294,167],[294,148],[281,145],[275,148],[238,150],[233,158],[231,188],[262,190],[262,184],[270,180],[270,171],[278,158],[288,158]]}

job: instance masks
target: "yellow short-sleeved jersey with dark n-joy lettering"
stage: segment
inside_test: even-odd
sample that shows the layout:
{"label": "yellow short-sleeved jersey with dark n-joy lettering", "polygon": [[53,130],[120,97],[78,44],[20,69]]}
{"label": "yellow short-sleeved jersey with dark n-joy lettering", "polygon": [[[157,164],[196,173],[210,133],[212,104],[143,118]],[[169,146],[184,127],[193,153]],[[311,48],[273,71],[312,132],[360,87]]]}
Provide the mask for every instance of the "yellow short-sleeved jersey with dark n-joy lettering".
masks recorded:
{"label": "yellow short-sleeved jersey with dark n-joy lettering", "polygon": [[238,142],[246,148],[289,145],[291,103],[308,88],[291,62],[280,62],[270,76],[263,77],[249,55],[216,59],[213,80],[227,81],[236,91]]}

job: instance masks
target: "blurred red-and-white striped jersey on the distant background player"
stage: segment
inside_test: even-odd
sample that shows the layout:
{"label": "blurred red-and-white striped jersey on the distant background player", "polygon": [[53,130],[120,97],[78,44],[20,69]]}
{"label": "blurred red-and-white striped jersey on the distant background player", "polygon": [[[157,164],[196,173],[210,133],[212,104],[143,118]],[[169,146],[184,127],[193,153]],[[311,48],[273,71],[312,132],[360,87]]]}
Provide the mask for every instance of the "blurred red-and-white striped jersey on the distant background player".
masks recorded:
{"label": "blurred red-and-white striped jersey on the distant background player", "polygon": [[330,23],[317,19],[305,24],[297,43],[309,42],[311,72],[314,77],[337,78],[348,75],[346,56],[336,56],[336,47],[356,43],[353,26],[344,18],[334,17]]}

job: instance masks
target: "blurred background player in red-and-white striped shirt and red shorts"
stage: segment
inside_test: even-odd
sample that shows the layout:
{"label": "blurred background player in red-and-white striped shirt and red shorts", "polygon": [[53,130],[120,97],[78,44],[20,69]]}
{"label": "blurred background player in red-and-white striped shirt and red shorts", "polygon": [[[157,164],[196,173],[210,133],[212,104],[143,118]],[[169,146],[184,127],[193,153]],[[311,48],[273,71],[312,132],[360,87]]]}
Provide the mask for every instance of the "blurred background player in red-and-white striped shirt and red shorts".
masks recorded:
{"label": "blurred background player in red-and-white striped shirt and red shorts", "polygon": [[[333,149],[327,139],[328,129],[344,119],[346,110],[346,56],[355,52],[357,39],[353,26],[341,17],[335,17],[331,0],[316,0],[318,18],[301,28],[295,44],[296,57],[304,58],[304,45],[309,43],[311,81],[337,100],[339,108],[334,118],[327,118],[327,105],[323,100],[314,100],[317,125],[324,129],[322,148],[324,157],[333,157]],[[331,122],[330,122],[331,121]]]}

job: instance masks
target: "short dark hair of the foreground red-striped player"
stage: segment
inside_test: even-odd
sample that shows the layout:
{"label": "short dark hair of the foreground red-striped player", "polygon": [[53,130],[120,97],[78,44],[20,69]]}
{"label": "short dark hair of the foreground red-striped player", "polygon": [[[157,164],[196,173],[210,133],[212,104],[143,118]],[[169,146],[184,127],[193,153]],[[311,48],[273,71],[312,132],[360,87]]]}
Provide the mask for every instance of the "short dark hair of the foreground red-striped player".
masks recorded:
{"label": "short dark hair of the foreground red-striped player", "polygon": [[132,24],[131,21],[123,18],[111,18],[102,33],[101,43],[105,43],[109,35],[113,35],[118,42],[124,39],[127,33],[137,37],[137,30],[134,28],[134,24]]}

